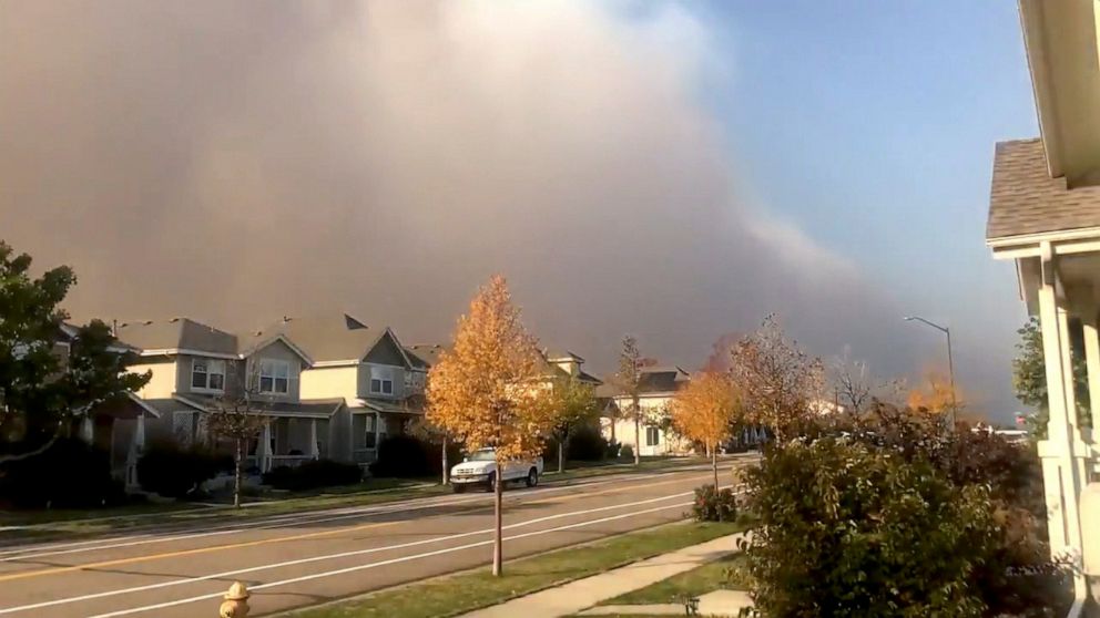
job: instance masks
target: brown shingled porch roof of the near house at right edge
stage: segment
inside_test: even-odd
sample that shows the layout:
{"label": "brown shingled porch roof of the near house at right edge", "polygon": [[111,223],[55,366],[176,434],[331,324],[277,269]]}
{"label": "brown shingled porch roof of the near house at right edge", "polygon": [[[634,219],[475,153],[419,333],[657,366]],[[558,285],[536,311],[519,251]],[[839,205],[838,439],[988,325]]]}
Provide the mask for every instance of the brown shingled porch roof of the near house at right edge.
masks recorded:
{"label": "brown shingled porch roof of the near house at right edge", "polygon": [[1100,227],[1100,187],[1051,178],[1038,138],[997,144],[987,240],[1091,227]]}

